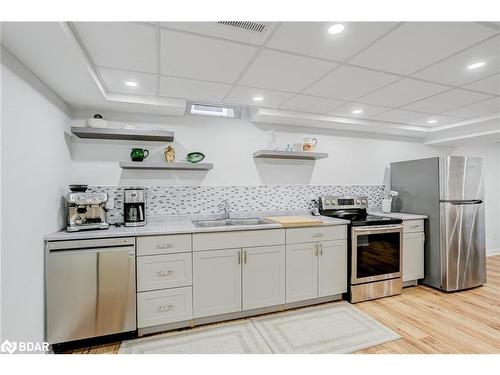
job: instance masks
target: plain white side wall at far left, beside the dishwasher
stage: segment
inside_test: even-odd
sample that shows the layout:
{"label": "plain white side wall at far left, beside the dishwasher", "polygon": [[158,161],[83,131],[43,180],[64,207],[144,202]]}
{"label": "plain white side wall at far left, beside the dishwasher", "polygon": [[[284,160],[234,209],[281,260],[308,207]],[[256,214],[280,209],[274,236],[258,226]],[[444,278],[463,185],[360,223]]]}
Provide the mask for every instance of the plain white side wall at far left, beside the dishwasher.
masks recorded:
{"label": "plain white side wall at far left, beside the dishwasher", "polygon": [[40,341],[43,237],[63,226],[61,197],[71,167],[64,130],[70,119],[38,91],[41,82],[2,52],[1,339]]}

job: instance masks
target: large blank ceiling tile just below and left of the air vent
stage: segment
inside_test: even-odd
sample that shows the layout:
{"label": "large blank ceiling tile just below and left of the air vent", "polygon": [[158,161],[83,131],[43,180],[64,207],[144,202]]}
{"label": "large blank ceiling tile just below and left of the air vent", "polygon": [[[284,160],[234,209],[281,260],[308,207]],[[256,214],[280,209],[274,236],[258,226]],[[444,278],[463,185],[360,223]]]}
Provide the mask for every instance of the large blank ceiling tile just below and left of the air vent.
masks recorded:
{"label": "large blank ceiling tile just below and left of the air vent", "polygon": [[233,83],[257,47],[186,34],[161,31],[161,73],[169,76]]}

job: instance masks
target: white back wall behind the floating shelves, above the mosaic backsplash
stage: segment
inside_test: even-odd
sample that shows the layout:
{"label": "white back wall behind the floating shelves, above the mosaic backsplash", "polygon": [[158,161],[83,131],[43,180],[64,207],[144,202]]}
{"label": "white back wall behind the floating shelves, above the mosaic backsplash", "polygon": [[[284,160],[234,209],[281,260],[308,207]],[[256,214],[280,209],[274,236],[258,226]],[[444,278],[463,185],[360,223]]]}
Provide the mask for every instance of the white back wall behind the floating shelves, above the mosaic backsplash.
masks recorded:
{"label": "white back wall behind the floating shelves, above the mosaic backsplash", "polygon": [[[80,113],[78,117],[87,116]],[[106,114],[103,114],[106,116]],[[113,114],[111,114],[112,116]],[[319,139],[317,151],[329,153],[328,159],[283,161],[253,159],[253,152],[266,148],[267,128],[243,120],[184,117],[163,119],[163,124],[137,123],[137,127],[164,128],[175,132],[177,158],[187,152],[202,151],[213,170],[202,172],[126,171],[119,160],[130,160],[130,142],[75,140],[73,179],[91,185],[275,185],[275,184],[382,184],[390,161],[437,155],[438,152],[416,142],[336,136],[328,130],[278,128],[280,146],[300,142],[306,136]],[[76,120],[75,124],[82,124]],[[131,122],[111,122],[123,126]],[[321,133],[318,134],[318,131]],[[163,162],[165,143],[135,143],[148,148],[148,161]]]}

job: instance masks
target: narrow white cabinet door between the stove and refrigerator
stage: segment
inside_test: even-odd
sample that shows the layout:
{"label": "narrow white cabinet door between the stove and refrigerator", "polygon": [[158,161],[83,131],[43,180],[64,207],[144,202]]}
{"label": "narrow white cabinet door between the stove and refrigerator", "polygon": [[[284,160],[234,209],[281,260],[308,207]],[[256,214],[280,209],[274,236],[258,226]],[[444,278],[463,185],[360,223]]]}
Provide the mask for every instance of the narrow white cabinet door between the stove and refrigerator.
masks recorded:
{"label": "narrow white cabinet door between the stove and refrigerator", "polygon": [[424,241],[423,232],[403,234],[403,281],[424,277]]}

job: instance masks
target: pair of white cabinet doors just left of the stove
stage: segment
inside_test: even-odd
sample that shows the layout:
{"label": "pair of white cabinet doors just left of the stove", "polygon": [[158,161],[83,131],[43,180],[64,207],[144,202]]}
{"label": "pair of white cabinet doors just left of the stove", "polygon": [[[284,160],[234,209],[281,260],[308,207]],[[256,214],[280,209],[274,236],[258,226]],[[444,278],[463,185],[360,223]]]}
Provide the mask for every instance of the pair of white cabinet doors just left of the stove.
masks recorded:
{"label": "pair of white cabinet doors just left of the stove", "polygon": [[286,302],[347,291],[347,241],[286,246]]}

